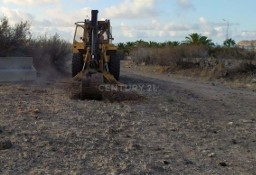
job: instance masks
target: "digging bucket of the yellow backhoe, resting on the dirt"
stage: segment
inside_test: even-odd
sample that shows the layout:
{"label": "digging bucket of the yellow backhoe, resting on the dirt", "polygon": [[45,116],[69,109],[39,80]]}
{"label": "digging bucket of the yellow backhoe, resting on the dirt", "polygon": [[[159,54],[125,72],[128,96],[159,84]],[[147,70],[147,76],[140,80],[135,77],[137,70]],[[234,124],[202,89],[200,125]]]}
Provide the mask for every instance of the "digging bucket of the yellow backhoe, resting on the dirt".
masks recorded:
{"label": "digging bucket of the yellow backhoe, resting on the dirt", "polygon": [[102,73],[86,73],[82,77],[81,99],[102,100],[103,92],[100,90],[100,85],[103,82]]}

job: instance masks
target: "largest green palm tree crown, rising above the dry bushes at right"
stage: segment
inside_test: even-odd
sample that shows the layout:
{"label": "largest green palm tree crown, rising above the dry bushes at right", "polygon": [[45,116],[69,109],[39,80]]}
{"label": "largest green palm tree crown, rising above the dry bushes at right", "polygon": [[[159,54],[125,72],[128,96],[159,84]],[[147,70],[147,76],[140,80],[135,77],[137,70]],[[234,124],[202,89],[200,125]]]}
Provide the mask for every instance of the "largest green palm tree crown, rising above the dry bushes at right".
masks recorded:
{"label": "largest green palm tree crown, rising above the dry bushes at right", "polygon": [[202,36],[198,33],[191,33],[189,36],[185,37],[186,44],[194,45],[205,45],[205,46],[214,46],[214,43],[207,36]]}

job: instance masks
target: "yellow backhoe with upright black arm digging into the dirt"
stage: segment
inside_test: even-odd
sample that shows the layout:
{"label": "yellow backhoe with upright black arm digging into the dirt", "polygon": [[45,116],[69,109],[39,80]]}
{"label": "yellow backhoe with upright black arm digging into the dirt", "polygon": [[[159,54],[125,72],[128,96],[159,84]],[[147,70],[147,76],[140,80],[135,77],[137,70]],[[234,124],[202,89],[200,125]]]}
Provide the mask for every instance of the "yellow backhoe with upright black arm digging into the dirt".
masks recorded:
{"label": "yellow backhoe with upright black arm digging into the dirt", "polygon": [[91,20],[76,22],[73,40],[72,77],[82,83],[81,98],[103,98],[104,83],[121,85],[120,57],[112,44],[110,20],[98,21],[98,10],[91,11]]}

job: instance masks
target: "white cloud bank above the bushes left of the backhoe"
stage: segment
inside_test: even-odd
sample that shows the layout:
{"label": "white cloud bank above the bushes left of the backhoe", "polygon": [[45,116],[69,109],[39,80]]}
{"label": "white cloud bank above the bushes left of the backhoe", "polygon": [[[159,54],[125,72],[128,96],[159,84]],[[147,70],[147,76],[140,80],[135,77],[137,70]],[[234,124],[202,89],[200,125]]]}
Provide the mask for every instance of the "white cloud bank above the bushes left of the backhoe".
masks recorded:
{"label": "white cloud bank above the bushes left of the backhoe", "polygon": [[46,9],[44,17],[39,19],[37,15],[22,10],[0,7],[0,16],[1,14],[8,18],[11,25],[15,25],[21,21],[28,21],[31,24],[31,32],[34,36],[58,33],[64,39],[71,41],[74,35],[74,23],[84,21],[84,17],[90,15],[91,10],[89,8],[83,8],[76,11],[64,12],[62,8],[57,6],[54,9]]}

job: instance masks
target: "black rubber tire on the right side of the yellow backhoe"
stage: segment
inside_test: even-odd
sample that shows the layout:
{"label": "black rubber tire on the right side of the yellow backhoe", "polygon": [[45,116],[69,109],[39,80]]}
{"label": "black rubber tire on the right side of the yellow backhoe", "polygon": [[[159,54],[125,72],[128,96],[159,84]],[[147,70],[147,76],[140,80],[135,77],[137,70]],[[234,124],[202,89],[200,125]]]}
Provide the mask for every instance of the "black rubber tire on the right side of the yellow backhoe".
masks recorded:
{"label": "black rubber tire on the right side of the yellow backhoe", "polygon": [[110,60],[108,63],[109,72],[115,77],[116,80],[119,80],[120,76],[120,56],[116,52],[109,54]]}

